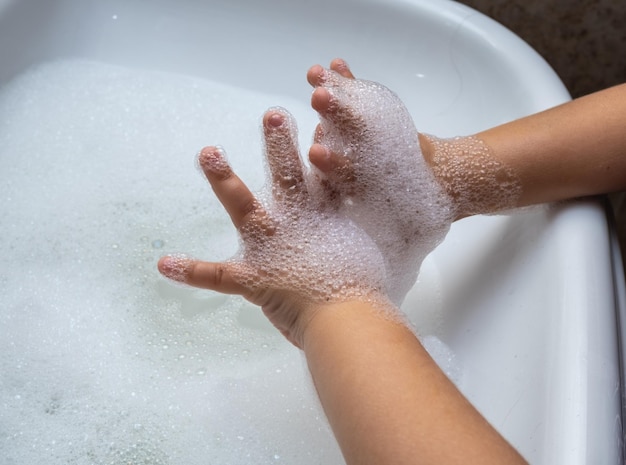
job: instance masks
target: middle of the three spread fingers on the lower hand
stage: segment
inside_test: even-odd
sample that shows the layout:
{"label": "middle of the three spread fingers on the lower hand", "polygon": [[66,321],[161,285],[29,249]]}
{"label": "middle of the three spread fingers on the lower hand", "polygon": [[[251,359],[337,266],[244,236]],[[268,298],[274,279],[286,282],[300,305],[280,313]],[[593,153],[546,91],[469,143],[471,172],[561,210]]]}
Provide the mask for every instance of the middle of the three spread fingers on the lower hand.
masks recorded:
{"label": "middle of the three spread fingers on the lower hand", "polygon": [[267,228],[265,210],[250,189],[233,172],[221,148],[205,147],[200,152],[198,161],[213,192],[237,229],[255,225]]}

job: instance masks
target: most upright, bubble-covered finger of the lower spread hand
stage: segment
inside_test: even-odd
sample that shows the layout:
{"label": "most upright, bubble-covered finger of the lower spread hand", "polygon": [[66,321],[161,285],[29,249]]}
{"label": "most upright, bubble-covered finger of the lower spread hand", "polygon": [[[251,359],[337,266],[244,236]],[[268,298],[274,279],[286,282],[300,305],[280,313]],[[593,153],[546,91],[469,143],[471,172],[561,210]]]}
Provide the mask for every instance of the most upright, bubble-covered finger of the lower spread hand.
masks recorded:
{"label": "most upright, bubble-covered finger of the lower spread hand", "polygon": [[306,195],[306,187],[293,118],[283,109],[268,110],[263,117],[263,129],[274,198],[300,201]]}

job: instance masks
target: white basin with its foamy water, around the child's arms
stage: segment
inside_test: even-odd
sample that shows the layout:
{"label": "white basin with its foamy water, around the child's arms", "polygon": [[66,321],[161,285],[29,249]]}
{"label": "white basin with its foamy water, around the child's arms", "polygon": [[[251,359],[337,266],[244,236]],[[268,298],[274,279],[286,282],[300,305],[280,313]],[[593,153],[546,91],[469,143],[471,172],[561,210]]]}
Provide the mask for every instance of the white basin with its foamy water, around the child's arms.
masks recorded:
{"label": "white basin with its foamy water, around the child's arms", "polygon": [[[274,105],[347,59],[416,126],[471,134],[568,100],[509,31],[444,0],[0,0],[0,457],[14,464],[340,464],[298,351],[158,257],[224,259],[194,169],[254,188]],[[621,463],[609,232],[580,200],[455,224],[403,306],[532,464]]]}

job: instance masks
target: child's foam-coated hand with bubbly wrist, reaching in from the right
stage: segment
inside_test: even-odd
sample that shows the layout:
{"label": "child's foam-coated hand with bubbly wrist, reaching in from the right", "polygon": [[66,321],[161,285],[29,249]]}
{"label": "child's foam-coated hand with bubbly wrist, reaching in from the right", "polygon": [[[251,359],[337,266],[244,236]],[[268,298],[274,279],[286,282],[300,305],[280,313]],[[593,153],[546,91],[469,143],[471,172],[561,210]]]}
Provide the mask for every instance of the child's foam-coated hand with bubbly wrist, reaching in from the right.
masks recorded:
{"label": "child's foam-coated hand with bubbly wrist, reaching in from the right", "polygon": [[381,249],[398,304],[451,223],[517,207],[521,181],[479,137],[419,134],[391,90],[355,79],[343,60],[331,68],[307,76],[321,120],[309,156],[321,184]]}

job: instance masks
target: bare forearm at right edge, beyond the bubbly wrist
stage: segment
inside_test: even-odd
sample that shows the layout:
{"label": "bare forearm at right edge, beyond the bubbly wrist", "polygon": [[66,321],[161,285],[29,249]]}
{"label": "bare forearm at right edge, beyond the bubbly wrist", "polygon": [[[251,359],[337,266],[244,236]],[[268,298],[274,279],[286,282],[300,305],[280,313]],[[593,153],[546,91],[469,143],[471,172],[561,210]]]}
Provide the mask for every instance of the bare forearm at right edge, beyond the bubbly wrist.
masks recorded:
{"label": "bare forearm at right edge, beyond the bubbly wrist", "polygon": [[[504,208],[608,193],[626,188],[626,85],[616,86],[558,107],[488,129],[475,136],[493,161],[519,183],[513,205]],[[424,156],[436,175],[437,153],[422,137]],[[457,151],[458,152],[458,151]],[[477,173],[465,170],[452,184],[472,189]],[[465,177],[465,179],[464,179]],[[478,210],[499,208],[484,202]]]}

